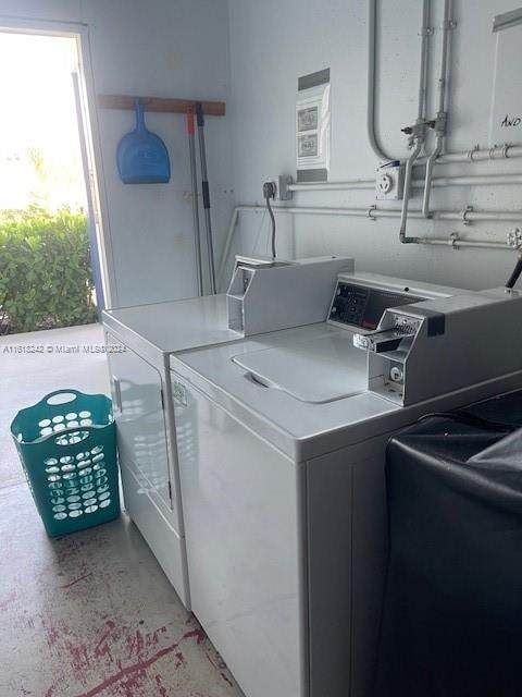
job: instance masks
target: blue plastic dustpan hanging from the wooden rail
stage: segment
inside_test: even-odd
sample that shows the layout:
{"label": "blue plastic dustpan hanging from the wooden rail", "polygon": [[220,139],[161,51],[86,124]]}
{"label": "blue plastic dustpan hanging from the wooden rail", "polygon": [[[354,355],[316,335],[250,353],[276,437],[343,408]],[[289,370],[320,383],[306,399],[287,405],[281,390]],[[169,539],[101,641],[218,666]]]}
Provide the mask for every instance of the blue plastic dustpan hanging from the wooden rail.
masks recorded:
{"label": "blue plastic dustpan hanging from the wooden rail", "polygon": [[124,184],[164,184],[171,179],[171,162],[163,140],[147,130],[144,107],[135,101],[136,129],[117,144],[116,161]]}

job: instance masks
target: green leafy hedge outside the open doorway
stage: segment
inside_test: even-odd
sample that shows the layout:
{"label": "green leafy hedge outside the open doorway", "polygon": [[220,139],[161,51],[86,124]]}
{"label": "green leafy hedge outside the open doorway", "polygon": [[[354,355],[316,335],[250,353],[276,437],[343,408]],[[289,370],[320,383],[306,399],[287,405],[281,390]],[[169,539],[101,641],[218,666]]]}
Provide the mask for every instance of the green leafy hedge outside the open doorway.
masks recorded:
{"label": "green leafy hedge outside the open doorway", "polygon": [[94,322],[92,291],[85,213],[0,213],[0,333]]}

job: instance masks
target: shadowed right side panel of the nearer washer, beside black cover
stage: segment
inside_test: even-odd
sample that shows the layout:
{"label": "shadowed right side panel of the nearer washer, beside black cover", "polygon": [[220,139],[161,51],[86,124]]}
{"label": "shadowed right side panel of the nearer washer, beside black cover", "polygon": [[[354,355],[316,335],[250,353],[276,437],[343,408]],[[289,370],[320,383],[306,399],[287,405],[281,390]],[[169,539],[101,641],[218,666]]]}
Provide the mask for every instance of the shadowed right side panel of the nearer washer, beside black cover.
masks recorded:
{"label": "shadowed right side panel of the nearer washer, beside black cover", "polygon": [[307,463],[310,697],[370,694],[387,554],[386,442]]}

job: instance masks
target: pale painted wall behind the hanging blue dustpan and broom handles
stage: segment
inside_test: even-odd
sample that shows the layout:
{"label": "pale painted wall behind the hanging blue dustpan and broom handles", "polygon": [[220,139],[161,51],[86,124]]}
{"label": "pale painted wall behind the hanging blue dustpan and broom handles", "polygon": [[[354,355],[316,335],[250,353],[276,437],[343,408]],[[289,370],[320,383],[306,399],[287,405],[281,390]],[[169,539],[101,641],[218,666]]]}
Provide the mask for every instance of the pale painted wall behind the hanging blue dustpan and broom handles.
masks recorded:
{"label": "pale painted wall behind the hanging blue dustpan and broom handles", "polygon": [[[0,0],[0,15],[87,23],[96,90],[222,99],[229,96],[226,0]],[[38,108],[35,105],[35,118]],[[99,111],[102,168],[116,294],[114,305],[197,294],[188,144],[179,114],[147,114],[165,142],[172,179],[124,185],[115,167],[132,112]],[[207,119],[208,167],[217,252],[232,207],[228,119]]]}

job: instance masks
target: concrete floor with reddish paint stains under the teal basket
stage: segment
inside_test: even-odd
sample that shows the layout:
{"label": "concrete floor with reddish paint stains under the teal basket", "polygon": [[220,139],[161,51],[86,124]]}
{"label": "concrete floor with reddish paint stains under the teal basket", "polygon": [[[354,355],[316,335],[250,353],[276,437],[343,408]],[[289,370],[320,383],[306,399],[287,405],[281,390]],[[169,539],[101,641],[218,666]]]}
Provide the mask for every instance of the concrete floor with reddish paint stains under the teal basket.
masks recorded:
{"label": "concrete floor with reddish paint stains under the teal basket", "polygon": [[9,424],[57,388],[108,391],[82,353],[102,343],[96,325],[0,339],[0,697],[241,697],[125,513],[51,540],[34,506]]}

